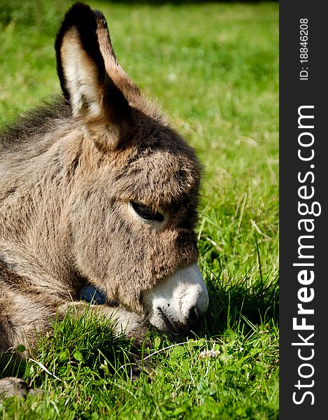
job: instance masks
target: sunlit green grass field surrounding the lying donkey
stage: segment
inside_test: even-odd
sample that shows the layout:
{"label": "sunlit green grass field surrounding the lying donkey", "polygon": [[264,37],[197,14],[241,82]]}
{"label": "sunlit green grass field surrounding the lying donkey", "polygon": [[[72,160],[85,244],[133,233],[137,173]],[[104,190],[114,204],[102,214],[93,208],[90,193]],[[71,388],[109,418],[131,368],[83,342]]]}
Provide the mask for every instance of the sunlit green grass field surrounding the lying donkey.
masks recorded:
{"label": "sunlit green grass field surrounding the lying donkey", "polygon": [[[0,7],[0,124],[59,91],[53,43],[70,3],[20,3]],[[142,352],[106,321],[67,316],[20,367],[43,394],[5,400],[0,413],[278,419],[278,4],[90,5],[106,15],[124,69],[204,165],[197,230],[210,307],[197,336],[151,331]]]}

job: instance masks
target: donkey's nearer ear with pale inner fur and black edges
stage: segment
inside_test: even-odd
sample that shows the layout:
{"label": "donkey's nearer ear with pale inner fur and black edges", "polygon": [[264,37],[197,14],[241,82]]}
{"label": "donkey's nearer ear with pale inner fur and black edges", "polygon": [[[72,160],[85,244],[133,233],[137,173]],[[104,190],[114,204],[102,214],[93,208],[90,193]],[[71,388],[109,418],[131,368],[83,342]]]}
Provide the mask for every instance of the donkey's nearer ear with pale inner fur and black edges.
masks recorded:
{"label": "donkey's nearer ear with pale inner fur and black edges", "polygon": [[57,73],[73,116],[87,128],[99,148],[124,144],[131,127],[131,109],[108,76],[92,9],[74,4],[57,34]]}

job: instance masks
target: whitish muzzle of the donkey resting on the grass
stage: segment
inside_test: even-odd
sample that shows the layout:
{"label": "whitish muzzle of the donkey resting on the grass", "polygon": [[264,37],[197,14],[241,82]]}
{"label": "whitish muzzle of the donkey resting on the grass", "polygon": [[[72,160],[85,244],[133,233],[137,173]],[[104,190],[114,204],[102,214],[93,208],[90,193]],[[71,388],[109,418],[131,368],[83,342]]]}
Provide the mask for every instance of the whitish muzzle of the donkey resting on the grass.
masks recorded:
{"label": "whitish muzzle of the donkey resting on the grass", "polygon": [[180,269],[145,293],[148,319],[159,330],[187,332],[197,327],[208,308],[208,292],[197,264]]}

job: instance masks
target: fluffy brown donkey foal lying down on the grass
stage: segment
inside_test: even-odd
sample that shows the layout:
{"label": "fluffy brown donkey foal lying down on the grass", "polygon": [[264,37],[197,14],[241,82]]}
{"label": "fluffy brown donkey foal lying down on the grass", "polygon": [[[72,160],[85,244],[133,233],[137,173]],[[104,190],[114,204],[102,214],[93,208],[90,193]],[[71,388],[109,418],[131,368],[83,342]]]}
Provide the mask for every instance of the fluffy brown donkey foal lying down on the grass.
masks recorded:
{"label": "fluffy brown donkey foal lying down on the grass", "polygon": [[62,97],[0,137],[2,360],[90,288],[128,337],[190,330],[208,306],[194,151],[117,62],[101,12],[74,4],[55,50]]}

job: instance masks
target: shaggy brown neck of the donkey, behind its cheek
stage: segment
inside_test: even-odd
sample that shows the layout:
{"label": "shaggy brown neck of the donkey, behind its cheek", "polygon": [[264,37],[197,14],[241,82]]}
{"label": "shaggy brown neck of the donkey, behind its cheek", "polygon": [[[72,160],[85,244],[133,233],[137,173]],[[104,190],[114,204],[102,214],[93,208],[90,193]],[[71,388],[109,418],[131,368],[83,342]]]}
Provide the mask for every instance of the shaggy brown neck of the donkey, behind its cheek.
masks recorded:
{"label": "shaggy brown neck of the donkey, behind its cheek", "polygon": [[1,167],[6,176],[0,186],[0,258],[48,288],[61,279],[78,282],[66,211],[78,150],[68,153],[67,131],[63,124],[31,138],[10,165],[3,160]]}

